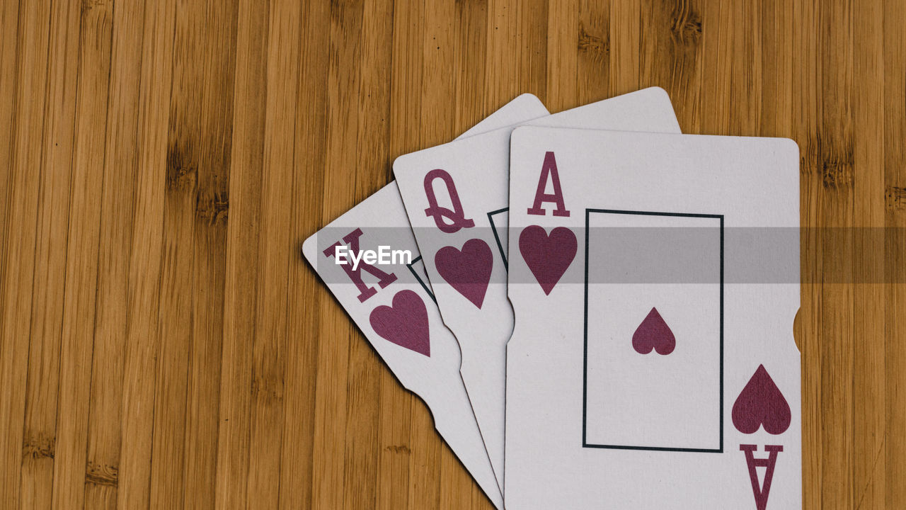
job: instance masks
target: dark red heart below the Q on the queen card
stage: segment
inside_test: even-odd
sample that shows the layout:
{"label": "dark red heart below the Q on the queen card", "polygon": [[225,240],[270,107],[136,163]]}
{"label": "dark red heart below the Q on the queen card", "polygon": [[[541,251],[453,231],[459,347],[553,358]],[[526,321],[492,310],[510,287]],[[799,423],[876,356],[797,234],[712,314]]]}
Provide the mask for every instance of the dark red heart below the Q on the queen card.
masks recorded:
{"label": "dark red heart below the Q on the queen card", "polygon": [[487,242],[470,239],[462,245],[462,250],[445,246],[434,255],[434,265],[453,289],[481,309],[494,267],[494,256]]}

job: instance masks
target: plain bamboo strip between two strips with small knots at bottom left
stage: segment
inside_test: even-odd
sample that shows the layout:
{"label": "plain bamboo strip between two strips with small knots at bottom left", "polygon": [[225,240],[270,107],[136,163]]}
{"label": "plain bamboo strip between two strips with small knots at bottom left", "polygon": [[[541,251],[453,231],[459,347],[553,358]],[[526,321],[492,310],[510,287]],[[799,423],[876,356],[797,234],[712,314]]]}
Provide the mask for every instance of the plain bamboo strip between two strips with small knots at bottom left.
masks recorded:
{"label": "plain bamboo strip between two strips with small knots at bottom left", "polygon": [[[82,8],[72,189],[53,456],[52,507],[82,507],[87,479],[101,201],[111,73],[112,5]],[[37,487],[36,487],[37,488]]]}

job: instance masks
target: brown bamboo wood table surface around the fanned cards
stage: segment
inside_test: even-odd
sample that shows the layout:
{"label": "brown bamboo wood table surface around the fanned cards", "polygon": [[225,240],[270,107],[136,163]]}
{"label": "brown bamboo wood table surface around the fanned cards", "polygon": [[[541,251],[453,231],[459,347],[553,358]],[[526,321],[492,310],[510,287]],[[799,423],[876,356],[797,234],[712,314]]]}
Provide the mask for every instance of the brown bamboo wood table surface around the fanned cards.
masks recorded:
{"label": "brown bamboo wood table surface around the fanned cards", "polygon": [[900,0],[3,0],[0,505],[489,508],[299,243],[518,93],[649,85],[799,143],[805,507],[906,507]]}

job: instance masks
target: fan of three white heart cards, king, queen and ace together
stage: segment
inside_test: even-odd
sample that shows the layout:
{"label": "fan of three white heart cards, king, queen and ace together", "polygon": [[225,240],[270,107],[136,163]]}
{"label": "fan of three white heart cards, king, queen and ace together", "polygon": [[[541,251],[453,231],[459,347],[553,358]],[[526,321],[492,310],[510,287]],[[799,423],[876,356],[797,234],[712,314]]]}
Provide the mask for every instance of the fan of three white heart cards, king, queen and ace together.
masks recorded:
{"label": "fan of three white heart cards, king, queen and ace together", "polygon": [[798,161],[523,94],[303,251],[497,508],[801,508]]}

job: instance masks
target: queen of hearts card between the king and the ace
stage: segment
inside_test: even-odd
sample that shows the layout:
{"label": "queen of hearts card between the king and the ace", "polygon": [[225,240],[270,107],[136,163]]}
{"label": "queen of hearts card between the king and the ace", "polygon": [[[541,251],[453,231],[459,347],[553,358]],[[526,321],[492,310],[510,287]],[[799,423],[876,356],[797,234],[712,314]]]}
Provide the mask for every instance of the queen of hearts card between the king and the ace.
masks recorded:
{"label": "queen of hearts card between the king and the ace", "polygon": [[[670,98],[652,87],[528,125],[679,132]],[[462,348],[462,376],[491,456],[504,475],[506,207],[512,127],[397,158],[393,172],[444,323]]]}

